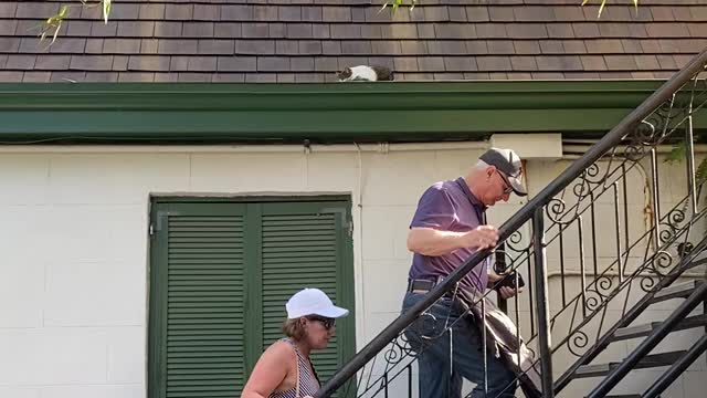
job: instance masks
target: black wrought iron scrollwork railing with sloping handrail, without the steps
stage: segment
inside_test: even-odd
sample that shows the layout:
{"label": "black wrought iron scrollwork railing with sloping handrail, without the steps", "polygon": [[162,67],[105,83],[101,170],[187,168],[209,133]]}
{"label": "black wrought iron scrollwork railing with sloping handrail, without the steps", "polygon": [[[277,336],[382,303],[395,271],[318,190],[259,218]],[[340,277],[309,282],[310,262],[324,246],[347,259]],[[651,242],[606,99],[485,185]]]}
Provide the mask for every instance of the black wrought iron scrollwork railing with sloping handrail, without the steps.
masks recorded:
{"label": "black wrought iron scrollwork railing with sloping handrail, without the steps", "polygon": [[[526,292],[508,306],[521,334],[529,337],[528,346],[537,347],[545,397],[567,387],[571,374],[605,348],[606,334],[619,320],[634,316],[632,308],[643,294],[676,277],[684,265],[683,249],[695,233],[704,234],[698,221],[707,216],[707,207],[698,202],[704,181],[694,177],[693,118],[707,113],[707,82],[700,74],[705,65],[707,51],[587,148],[499,229],[496,263],[508,275],[518,277],[521,272],[528,280]],[[678,140],[687,144],[686,195],[663,211],[659,150]],[[642,182],[637,190],[636,179]],[[632,207],[632,195],[644,198],[645,206]],[[599,224],[598,213],[609,213],[612,222],[606,224],[604,217]],[[645,224],[640,233],[631,228],[636,222]],[[366,345],[316,397],[329,397],[342,386],[358,397],[388,397],[393,391],[412,397],[419,353],[405,339],[405,328],[428,316],[432,304],[492,253],[472,255]],[[548,261],[558,269],[552,275]],[[556,281],[559,297],[552,303],[559,305],[551,306],[548,283]],[[567,370],[553,380],[552,358],[560,357],[576,359],[562,366]]]}

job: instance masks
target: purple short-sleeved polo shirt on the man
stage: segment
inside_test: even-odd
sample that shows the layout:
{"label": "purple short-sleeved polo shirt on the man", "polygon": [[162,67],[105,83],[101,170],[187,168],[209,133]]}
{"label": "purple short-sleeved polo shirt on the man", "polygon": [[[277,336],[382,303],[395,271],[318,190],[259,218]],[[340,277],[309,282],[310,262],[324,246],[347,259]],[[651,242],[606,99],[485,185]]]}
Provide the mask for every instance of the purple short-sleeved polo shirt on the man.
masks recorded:
{"label": "purple short-sleeved polo shirt on the man", "polygon": [[[464,232],[481,226],[486,207],[472,193],[463,178],[434,184],[420,198],[418,210],[410,228],[423,227],[436,230]],[[457,249],[449,254],[428,256],[414,253],[410,279],[435,281],[437,276],[447,276],[475,250]],[[473,287],[484,292],[488,281],[487,261],[461,280],[463,289]]]}

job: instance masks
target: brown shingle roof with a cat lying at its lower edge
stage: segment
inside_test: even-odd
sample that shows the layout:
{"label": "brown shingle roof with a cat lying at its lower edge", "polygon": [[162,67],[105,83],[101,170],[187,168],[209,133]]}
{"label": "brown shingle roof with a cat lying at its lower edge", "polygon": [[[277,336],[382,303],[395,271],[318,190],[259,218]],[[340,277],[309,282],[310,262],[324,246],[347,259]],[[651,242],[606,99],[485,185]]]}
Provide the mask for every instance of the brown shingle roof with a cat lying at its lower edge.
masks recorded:
{"label": "brown shingle roof with a cat lying at its lower edge", "polygon": [[326,82],[357,64],[397,80],[665,78],[707,46],[701,0],[114,0],[73,7],[56,42],[36,29],[70,0],[0,2],[0,81]]}

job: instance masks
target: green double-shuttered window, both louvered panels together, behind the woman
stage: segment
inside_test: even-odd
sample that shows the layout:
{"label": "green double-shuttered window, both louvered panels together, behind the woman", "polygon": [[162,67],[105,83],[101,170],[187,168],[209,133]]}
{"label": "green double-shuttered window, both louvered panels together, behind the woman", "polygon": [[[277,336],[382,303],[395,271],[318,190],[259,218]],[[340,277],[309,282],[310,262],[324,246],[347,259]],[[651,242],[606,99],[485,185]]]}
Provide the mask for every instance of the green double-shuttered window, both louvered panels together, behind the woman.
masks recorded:
{"label": "green double-shuttered window, both louvered panels together, behind the woman", "polygon": [[[150,398],[239,397],[262,350],[282,337],[284,303],[319,287],[354,310],[346,200],[152,207]],[[313,355],[323,380],[355,350],[354,316]]]}

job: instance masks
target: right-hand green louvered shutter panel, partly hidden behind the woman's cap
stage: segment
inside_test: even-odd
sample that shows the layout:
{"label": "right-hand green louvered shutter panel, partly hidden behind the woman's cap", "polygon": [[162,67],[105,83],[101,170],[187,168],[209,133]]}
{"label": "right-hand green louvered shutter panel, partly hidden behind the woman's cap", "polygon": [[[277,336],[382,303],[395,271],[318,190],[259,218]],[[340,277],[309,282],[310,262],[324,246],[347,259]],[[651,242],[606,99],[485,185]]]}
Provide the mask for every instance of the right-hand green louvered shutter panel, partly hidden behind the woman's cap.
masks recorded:
{"label": "right-hand green louvered shutter panel, partly hidden behind the woman's cap", "polygon": [[[282,337],[286,317],[284,303],[304,287],[318,287],[339,304],[346,300],[346,207],[336,203],[267,203],[262,214],[262,312],[263,344]],[[350,282],[349,282],[350,283]],[[348,297],[347,297],[348,298]],[[327,380],[342,364],[347,348],[341,336],[352,326],[352,316],[337,322],[337,335],[323,352],[313,354],[317,374]],[[350,344],[349,344],[350,346]]]}

